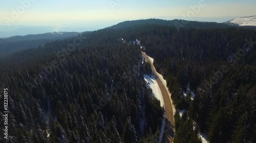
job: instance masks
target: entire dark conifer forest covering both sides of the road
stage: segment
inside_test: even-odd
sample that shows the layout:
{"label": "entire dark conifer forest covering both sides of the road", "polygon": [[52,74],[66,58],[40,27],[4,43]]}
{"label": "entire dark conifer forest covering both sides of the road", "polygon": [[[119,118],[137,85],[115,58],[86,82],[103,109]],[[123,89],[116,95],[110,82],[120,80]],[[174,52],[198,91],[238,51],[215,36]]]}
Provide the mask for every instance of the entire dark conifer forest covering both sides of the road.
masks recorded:
{"label": "entire dark conifer forest covering both sides of the road", "polygon": [[172,94],[175,143],[201,142],[199,132],[209,142],[256,142],[255,34],[218,25],[113,26],[11,54],[0,61],[7,142],[158,142],[164,108],[146,88],[151,71],[141,51]]}

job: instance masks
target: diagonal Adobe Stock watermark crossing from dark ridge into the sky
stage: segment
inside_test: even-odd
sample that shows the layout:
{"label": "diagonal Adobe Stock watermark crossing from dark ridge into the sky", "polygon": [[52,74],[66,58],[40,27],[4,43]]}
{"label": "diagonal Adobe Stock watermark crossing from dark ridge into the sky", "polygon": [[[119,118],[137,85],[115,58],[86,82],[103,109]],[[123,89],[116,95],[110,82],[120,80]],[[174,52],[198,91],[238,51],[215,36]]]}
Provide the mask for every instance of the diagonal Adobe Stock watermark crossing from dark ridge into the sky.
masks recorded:
{"label": "diagonal Adobe Stock watermark crossing from dark ridge into the sky", "polygon": [[189,23],[189,21],[186,21],[186,20],[192,20],[196,16],[196,14],[200,13],[201,8],[204,8],[205,6],[206,6],[205,0],[200,0],[197,5],[190,6],[191,10],[188,11],[186,15],[181,14],[182,19],[184,20],[181,20],[181,23],[177,21],[174,22],[174,25],[177,28],[178,32],[180,27],[185,27],[185,25]]}

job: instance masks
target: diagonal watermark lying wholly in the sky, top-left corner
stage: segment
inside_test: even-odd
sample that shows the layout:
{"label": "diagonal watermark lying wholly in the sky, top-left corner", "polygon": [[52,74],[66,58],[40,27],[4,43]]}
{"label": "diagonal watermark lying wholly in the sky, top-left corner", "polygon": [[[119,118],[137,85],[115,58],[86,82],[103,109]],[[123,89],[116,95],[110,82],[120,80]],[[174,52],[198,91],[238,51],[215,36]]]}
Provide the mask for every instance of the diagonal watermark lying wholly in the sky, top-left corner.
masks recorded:
{"label": "diagonal watermark lying wholly in the sky, top-left corner", "polygon": [[10,26],[11,22],[17,20],[20,15],[24,14],[25,11],[30,8],[31,3],[34,3],[36,0],[20,0],[20,5],[16,9],[12,9],[11,16],[5,16],[4,20],[7,26]]}

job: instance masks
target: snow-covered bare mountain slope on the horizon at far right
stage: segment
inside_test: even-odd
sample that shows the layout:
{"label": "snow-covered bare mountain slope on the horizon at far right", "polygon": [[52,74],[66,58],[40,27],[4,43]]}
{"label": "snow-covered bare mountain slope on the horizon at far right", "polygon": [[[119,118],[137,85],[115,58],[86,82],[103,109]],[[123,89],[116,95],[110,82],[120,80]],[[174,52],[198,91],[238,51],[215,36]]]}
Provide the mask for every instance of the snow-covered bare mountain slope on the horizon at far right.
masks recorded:
{"label": "snow-covered bare mountain slope on the horizon at far right", "polygon": [[228,24],[238,24],[240,26],[256,26],[256,15],[254,16],[246,16],[246,17],[240,17],[235,18],[229,21],[226,21],[224,23]]}

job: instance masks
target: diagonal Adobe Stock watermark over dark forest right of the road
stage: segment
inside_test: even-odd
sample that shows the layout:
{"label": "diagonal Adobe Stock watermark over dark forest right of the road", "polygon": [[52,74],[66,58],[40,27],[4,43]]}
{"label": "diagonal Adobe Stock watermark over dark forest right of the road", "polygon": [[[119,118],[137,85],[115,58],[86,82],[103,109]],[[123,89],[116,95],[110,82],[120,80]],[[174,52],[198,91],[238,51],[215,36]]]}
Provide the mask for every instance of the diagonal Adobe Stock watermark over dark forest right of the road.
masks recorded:
{"label": "diagonal Adobe Stock watermark over dark forest right of the road", "polygon": [[[245,44],[243,45],[243,48],[240,48],[237,50],[236,53],[232,53],[231,55],[229,55],[227,58],[227,62],[231,64],[231,67],[236,66],[238,61],[240,61],[246,55],[246,53],[253,48],[254,45],[256,45],[256,41],[252,41],[252,38],[250,38],[250,40],[245,39]],[[210,90],[212,88],[212,85],[216,84],[218,80],[223,78],[223,74],[228,73],[229,71],[230,69],[228,68],[228,66],[223,65],[220,70],[214,72],[214,76],[212,76],[209,81],[204,81],[202,88],[197,88],[199,95],[203,95],[203,92]]]}

